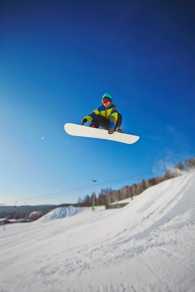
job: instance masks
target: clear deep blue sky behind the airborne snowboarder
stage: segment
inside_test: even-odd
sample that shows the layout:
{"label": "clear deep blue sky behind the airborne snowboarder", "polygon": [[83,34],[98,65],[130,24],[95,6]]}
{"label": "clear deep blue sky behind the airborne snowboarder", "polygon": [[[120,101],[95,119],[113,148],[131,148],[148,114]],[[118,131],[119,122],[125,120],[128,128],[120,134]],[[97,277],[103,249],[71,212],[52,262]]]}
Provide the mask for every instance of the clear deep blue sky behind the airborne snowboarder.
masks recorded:
{"label": "clear deep blue sky behind the airborne snowboarder", "polygon": [[[0,203],[77,202],[94,179],[97,192],[118,189],[195,155],[190,2],[3,0],[0,10]],[[64,131],[105,92],[137,143]]]}

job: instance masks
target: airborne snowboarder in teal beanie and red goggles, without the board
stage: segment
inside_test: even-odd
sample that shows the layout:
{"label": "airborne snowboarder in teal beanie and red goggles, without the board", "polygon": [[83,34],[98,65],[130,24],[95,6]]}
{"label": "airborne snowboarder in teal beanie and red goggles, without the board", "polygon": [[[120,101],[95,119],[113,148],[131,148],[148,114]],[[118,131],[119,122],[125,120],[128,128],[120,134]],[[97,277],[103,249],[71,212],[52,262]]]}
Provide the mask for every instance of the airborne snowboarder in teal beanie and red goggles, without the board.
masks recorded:
{"label": "airborne snowboarder in teal beanie and red goggles, without the board", "polygon": [[99,128],[100,126],[102,129],[108,130],[108,134],[113,134],[115,131],[122,133],[120,129],[122,115],[118,112],[117,106],[113,104],[109,93],[103,95],[102,105],[97,110],[92,111],[82,119],[81,125],[89,121],[91,121],[89,127]]}

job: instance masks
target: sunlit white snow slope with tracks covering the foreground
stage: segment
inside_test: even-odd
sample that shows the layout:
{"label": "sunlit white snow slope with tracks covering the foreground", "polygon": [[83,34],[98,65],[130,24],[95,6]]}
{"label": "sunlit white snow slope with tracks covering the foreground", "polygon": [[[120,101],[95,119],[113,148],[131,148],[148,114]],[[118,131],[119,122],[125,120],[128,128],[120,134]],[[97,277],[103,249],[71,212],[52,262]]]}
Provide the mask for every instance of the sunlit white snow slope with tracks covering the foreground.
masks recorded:
{"label": "sunlit white snow slope with tracks covering the foreground", "polygon": [[11,225],[0,292],[195,292],[195,173],[122,209]]}

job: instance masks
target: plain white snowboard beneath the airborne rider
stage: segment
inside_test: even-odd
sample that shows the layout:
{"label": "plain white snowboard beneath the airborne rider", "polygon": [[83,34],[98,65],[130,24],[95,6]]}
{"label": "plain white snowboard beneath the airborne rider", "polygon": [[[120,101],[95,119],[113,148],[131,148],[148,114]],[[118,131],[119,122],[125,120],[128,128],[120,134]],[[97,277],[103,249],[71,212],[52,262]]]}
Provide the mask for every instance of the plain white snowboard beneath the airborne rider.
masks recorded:
{"label": "plain white snowboard beneath the airborne rider", "polygon": [[81,126],[76,124],[67,123],[64,125],[65,131],[72,136],[98,138],[117,141],[126,144],[133,144],[137,142],[139,136],[124,134],[114,132],[113,134],[108,134],[107,130],[101,128],[90,128],[87,126]]}

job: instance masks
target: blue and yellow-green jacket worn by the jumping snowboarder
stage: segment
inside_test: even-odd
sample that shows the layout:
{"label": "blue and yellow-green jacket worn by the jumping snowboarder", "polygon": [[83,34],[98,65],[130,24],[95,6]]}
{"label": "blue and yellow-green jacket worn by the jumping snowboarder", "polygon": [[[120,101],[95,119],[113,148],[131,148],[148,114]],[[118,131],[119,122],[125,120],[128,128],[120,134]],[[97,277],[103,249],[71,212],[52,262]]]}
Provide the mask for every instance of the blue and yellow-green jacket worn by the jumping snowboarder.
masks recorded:
{"label": "blue and yellow-green jacket worn by the jumping snowboarder", "polygon": [[103,104],[98,107],[98,109],[92,111],[89,115],[87,115],[86,118],[87,122],[91,121],[93,117],[99,114],[107,119],[110,120],[109,127],[115,128],[118,118],[118,108],[116,105],[113,104],[113,102],[110,103],[110,105],[106,108]]}

